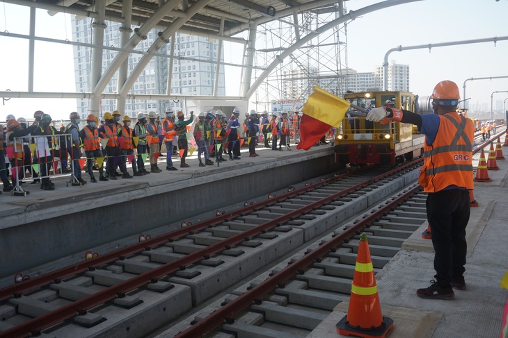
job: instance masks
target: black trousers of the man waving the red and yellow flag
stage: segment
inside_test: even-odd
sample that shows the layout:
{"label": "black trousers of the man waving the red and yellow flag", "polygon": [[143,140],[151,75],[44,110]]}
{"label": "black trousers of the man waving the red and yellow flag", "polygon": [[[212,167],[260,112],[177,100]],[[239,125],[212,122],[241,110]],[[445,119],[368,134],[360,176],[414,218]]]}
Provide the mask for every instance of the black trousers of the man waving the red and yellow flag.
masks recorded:
{"label": "black trousers of the man waving the red and yellow flag", "polygon": [[466,226],[469,221],[469,192],[441,190],[427,196],[427,220],[434,246],[434,276],[440,287],[450,287],[463,276],[466,264]]}

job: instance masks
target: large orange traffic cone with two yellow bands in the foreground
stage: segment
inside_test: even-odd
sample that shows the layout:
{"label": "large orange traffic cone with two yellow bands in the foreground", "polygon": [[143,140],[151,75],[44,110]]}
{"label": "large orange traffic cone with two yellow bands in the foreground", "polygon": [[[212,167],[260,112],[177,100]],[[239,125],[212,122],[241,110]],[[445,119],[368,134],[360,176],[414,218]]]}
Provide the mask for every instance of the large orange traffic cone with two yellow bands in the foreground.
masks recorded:
{"label": "large orange traffic cone with two yellow bands in the foreground", "polygon": [[369,244],[367,235],[363,233],[360,235],[347,315],[335,329],[340,335],[374,338],[385,337],[390,328],[393,328],[393,320],[381,314]]}

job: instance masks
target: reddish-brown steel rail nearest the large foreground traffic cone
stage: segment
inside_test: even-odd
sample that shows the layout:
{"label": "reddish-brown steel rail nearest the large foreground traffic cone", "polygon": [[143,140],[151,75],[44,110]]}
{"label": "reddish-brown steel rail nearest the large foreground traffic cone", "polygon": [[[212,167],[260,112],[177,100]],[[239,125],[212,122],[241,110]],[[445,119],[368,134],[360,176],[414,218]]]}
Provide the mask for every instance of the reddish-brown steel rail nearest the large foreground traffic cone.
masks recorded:
{"label": "reddish-brown steel rail nearest the large foreground traffic cone", "polygon": [[309,267],[316,261],[319,262],[321,257],[326,255],[326,253],[329,251],[333,251],[335,247],[342,244],[344,239],[348,239],[355,233],[363,230],[365,226],[376,221],[388,211],[395,208],[395,206],[402,203],[402,201],[406,201],[406,199],[419,192],[421,189],[422,187],[416,186],[412,189],[409,189],[407,192],[404,192],[404,194],[397,197],[394,201],[384,205],[383,207],[379,208],[379,210],[373,211],[364,219],[354,224],[354,226],[351,226],[351,228],[342,231],[342,233],[338,235],[335,235],[328,242],[321,244],[315,250],[306,253],[299,260],[296,260],[296,262],[289,264],[287,267],[285,267],[285,269],[275,273],[273,276],[267,278],[259,285],[246,291],[244,294],[241,294],[241,296],[238,296],[238,298],[235,298],[235,300],[224,305],[212,314],[209,314],[209,316],[207,316],[205,319],[201,319],[198,321],[198,323],[195,323],[193,326],[191,326],[191,328],[175,335],[175,338],[203,337],[208,332],[219,328],[219,326],[221,326],[223,323],[232,323],[235,321],[235,315],[237,315],[239,312],[245,310],[253,303],[261,303],[263,296],[269,294],[269,292],[273,291],[274,289],[284,287],[284,283],[290,278],[293,278],[297,274],[304,274],[305,268]]}

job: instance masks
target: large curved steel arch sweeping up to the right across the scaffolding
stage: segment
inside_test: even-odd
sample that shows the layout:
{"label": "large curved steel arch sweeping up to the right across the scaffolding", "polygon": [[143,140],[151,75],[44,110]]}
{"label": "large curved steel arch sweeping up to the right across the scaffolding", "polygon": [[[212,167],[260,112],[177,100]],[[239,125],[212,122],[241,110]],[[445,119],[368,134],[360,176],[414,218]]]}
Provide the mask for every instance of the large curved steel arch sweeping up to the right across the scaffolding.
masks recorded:
{"label": "large curved steel arch sweeping up to the right across the scaffolding", "polygon": [[261,85],[261,83],[264,81],[264,79],[267,78],[267,76],[269,76],[269,74],[273,71],[273,69],[275,69],[277,67],[277,65],[280,64],[280,62],[283,62],[283,60],[285,58],[287,58],[287,56],[289,56],[291,53],[296,51],[296,49],[299,49],[301,46],[303,46],[303,44],[312,40],[315,36],[322,34],[339,24],[343,24],[344,22],[347,22],[347,20],[349,20],[349,19],[354,20],[354,19],[356,19],[356,17],[359,17],[360,15],[374,12],[376,10],[381,10],[383,8],[388,8],[388,7],[402,5],[404,3],[416,2],[416,1],[422,1],[422,0],[387,0],[387,1],[383,1],[381,3],[374,3],[374,5],[360,8],[359,10],[355,10],[355,11],[351,10],[347,15],[344,15],[342,17],[339,17],[338,19],[328,22],[328,24],[324,24],[323,26],[317,28],[312,33],[308,33],[304,37],[301,37],[301,39],[298,42],[296,42],[291,47],[289,47],[288,49],[283,51],[283,53],[281,53],[279,56],[276,56],[276,59],[273,60],[273,62],[271,62],[271,64],[267,67],[267,69],[264,70],[262,72],[262,74],[256,79],[256,81],[251,85],[248,92],[246,92],[244,99],[248,99],[254,94],[257,87],[259,87]]}

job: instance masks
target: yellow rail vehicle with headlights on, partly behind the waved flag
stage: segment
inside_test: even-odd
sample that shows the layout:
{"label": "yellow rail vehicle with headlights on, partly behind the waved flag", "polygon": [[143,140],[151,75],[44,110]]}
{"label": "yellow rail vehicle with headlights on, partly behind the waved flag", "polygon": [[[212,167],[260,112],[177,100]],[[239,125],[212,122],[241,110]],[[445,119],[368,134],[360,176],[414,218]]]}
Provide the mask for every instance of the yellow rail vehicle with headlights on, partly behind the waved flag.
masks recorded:
{"label": "yellow rail vehicle with headlights on, partly behind the waved flag", "polygon": [[[344,94],[344,99],[365,110],[392,105],[418,113],[431,112],[428,96],[419,98],[411,92],[358,92]],[[335,158],[346,164],[401,164],[423,155],[424,135],[415,133],[412,124],[374,123],[358,116],[358,110],[346,114],[335,133]],[[361,113],[360,113],[361,114]]]}

